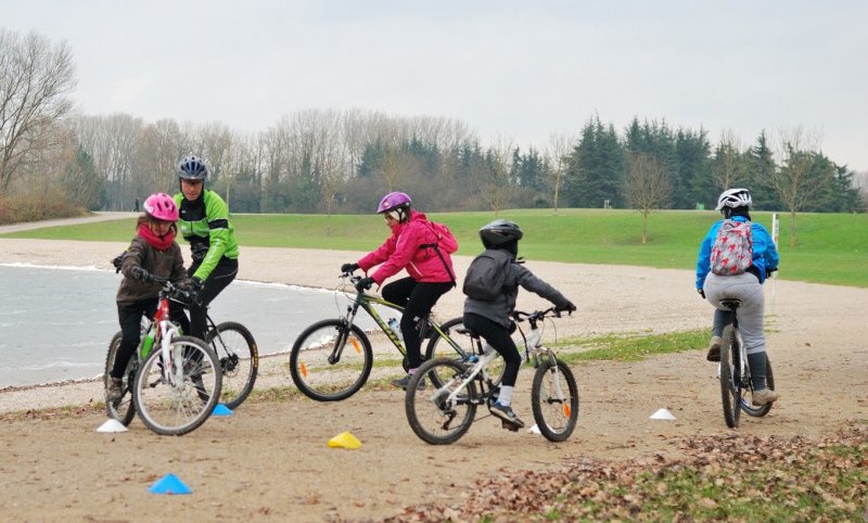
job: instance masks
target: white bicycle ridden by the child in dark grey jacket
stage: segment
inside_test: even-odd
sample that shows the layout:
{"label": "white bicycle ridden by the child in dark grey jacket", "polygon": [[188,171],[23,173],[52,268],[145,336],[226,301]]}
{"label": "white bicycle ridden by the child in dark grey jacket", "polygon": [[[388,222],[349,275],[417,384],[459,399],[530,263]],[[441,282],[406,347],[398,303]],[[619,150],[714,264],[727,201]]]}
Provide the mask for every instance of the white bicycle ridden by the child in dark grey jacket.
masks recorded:
{"label": "white bicycle ridden by the child in dark grey jacket", "polygon": [[[539,323],[552,317],[560,317],[553,308],[514,311],[512,315],[524,341],[525,361],[533,360],[536,368],[531,387],[534,421],[547,439],[563,442],[573,433],[578,419],[578,387],[570,367],[558,360],[553,349],[542,346]],[[521,329],[521,322],[525,320],[531,326],[526,333]],[[498,353],[486,350],[478,334],[468,334],[473,340],[475,358],[467,361],[450,358],[429,360],[416,371],[407,386],[407,421],[416,435],[431,445],[457,442],[470,430],[476,408],[480,405],[490,407],[499,392],[487,372],[488,363]],[[432,375],[448,379],[434,391],[418,387],[422,380]],[[505,429],[519,430],[506,420],[501,423]]]}

